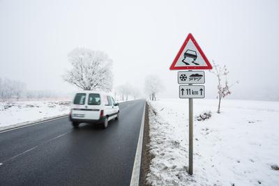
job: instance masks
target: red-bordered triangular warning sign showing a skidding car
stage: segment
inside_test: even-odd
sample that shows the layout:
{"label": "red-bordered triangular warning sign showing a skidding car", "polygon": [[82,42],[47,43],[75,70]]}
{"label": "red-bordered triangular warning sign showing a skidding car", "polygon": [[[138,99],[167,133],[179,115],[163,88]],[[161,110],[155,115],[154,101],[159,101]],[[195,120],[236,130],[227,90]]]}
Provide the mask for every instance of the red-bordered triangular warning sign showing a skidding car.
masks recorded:
{"label": "red-bordered triangular warning sign showing a skidding car", "polygon": [[195,69],[212,69],[212,66],[193,35],[189,33],[169,70]]}

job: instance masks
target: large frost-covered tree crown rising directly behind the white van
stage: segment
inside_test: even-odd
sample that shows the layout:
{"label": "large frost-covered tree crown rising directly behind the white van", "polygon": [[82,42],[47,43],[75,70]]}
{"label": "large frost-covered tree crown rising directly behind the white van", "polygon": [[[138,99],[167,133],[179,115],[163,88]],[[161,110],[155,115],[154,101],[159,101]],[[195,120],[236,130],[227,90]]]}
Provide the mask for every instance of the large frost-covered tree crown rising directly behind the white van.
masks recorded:
{"label": "large frost-covered tree crown rising directly behind the white van", "polygon": [[63,79],[83,90],[112,90],[112,60],[107,54],[91,49],[76,48],[68,54],[73,65]]}

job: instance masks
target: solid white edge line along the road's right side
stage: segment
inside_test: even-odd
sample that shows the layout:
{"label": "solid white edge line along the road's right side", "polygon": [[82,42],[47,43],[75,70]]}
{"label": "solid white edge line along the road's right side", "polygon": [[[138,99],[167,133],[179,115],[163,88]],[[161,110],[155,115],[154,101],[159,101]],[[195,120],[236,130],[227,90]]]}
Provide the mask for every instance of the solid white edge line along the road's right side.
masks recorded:
{"label": "solid white edge line along the road's right side", "polygon": [[140,184],[140,164],[142,160],[142,140],[144,137],[145,105],[146,102],[144,102],[144,113],[142,114],[142,125],[140,126],[140,135],[139,140],[137,141],[137,152],[135,153],[135,162],[130,186],[138,186]]}

